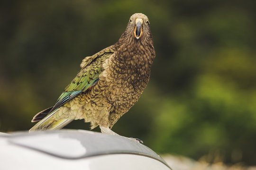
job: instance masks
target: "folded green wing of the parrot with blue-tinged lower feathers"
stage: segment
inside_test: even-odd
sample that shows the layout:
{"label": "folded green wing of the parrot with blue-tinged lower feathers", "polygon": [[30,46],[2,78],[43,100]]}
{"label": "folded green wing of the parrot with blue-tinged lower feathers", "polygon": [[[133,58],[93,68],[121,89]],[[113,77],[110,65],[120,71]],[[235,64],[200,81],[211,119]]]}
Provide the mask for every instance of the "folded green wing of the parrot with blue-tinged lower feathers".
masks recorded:
{"label": "folded green wing of the parrot with blue-tinged lower feathers", "polygon": [[55,106],[49,111],[53,111],[64,103],[70,101],[78,94],[85,92],[88,88],[99,81],[99,75],[103,71],[102,64],[115,52],[114,46],[103,49],[93,56],[82,60],[81,71],[73,81],[65,88],[64,92],[58,98]]}

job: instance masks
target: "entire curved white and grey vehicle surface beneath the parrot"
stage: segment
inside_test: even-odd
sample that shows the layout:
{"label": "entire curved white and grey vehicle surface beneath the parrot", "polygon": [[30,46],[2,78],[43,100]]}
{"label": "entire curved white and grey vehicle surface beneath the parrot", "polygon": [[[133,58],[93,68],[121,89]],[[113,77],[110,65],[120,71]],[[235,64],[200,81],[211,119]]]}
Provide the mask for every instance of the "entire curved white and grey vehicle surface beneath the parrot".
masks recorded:
{"label": "entire curved white and grey vehicle surface beneath the parrot", "polygon": [[143,144],[86,130],[0,133],[0,170],[171,170]]}

